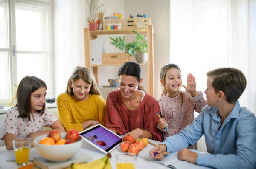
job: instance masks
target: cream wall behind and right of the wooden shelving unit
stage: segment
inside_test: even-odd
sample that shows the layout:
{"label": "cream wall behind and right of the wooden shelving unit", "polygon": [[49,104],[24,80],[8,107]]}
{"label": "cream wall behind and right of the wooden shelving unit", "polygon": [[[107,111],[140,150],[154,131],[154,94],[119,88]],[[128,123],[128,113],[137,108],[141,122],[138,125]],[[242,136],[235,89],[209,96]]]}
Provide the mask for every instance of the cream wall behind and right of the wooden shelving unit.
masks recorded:
{"label": "cream wall behind and right of the wooden shelving unit", "polygon": [[[99,5],[103,3],[103,7],[106,8],[105,16],[113,15],[114,12],[121,13],[122,18],[128,18],[131,14],[134,17],[137,14],[146,14],[151,18],[151,22],[154,28],[154,54],[155,54],[155,98],[159,99],[161,95],[160,86],[160,69],[162,66],[169,63],[170,55],[170,1],[169,0],[108,0],[105,3],[104,0],[99,0]],[[113,35],[115,37],[119,35]],[[123,35],[120,35],[121,37]],[[135,39],[135,34],[125,34],[125,38],[128,37],[128,42]],[[101,35],[99,38],[105,39],[106,53],[121,52],[114,45],[110,44],[111,40],[109,35]],[[146,34],[144,34],[146,37]],[[132,61],[135,61],[134,56]],[[118,79],[117,73],[120,66],[99,66],[99,84],[109,85],[107,79]],[[143,65],[143,86],[148,89],[148,71],[147,66]]]}

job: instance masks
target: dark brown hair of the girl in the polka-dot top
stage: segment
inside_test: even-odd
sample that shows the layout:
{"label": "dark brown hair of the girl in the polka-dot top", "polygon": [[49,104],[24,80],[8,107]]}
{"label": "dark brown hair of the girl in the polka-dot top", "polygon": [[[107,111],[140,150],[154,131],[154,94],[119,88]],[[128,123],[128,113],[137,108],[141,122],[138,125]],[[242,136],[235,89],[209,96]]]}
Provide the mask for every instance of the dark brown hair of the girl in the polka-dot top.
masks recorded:
{"label": "dark brown hair of the girl in the polka-dot top", "polygon": [[[32,114],[30,103],[31,93],[41,87],[47,89],[45,82],[38,77],[25,76],[21,79],[16,92],[17,104],[15,105],[16,107],[18,107],[20,113],[20,115],[18,116],[19,118],[28,118],[28,121],[30,121],[30,115]],[[42,115],[44,113],[44,110],[45,103],[42,109],[37,112],[41,113],[40,115]]]}

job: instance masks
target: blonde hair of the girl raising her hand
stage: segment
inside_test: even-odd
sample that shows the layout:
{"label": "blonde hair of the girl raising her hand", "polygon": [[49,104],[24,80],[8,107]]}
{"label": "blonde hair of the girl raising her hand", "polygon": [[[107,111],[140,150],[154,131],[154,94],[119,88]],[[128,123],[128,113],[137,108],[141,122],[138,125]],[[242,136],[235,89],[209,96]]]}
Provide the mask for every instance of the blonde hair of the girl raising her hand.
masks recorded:
{"label": "blonde hair of the girl raising her hand", "polygon": [[[163,82],[163,84],[162,84],[162,91],[163,91],[163,93],[161,94],[161,97],[163,96],[163,94],[164,94],[164,95],[167,94],[167,89],[166,89],[166,84],[165,84],[166,72],[167,72],[169,69],[172,69],[172,68],[175,68],[175,69],[180,70],[180,67],[179,67],[178,65],[174,64],[174,63],[169,63],[169,64],[167,64],[167,65],[165,65],[165,66],[163,66],[163,67],[161,68],[160,79],[162,79],[162,82]],[[180,70],[180,73],[181,73],[181,70]],[[182,104],[183,104],[183,95],[182,95],[182,92],[181,92],[181,91],[180,91],[180,93],[181,93],[181,105],[180,105],[180,107],[181,107]]]}

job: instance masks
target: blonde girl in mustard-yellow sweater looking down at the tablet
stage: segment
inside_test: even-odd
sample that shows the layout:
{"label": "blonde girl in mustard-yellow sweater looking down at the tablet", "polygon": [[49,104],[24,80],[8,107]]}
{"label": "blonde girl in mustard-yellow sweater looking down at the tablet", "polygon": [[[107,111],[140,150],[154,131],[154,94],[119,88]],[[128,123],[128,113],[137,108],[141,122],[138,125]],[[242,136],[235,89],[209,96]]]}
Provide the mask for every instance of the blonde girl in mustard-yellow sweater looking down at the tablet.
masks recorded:
{"label": "blonde girl in mustard-yellow sweater looking down at the tablet", "polygon": [[96,124],[106,126],[106,101],[100,96],[90,69],[77,66],[70,76],[65,93],[57,98],[58,120],[66,132],[79,132]]}

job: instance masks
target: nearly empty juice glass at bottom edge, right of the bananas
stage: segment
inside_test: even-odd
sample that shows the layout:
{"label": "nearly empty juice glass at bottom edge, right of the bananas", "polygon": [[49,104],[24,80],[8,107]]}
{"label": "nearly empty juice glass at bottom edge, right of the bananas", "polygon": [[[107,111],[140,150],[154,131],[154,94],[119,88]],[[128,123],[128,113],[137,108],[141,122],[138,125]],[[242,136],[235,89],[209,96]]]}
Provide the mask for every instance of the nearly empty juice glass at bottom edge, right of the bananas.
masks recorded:
{"label": "nearly empty juice glass at bottom edge, right of the bananas", "polygon": [[116,155],[116,168],[135,169],[136,157],[137,155],[129,152]]}

